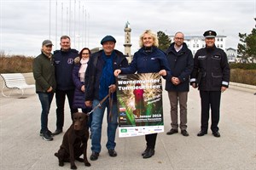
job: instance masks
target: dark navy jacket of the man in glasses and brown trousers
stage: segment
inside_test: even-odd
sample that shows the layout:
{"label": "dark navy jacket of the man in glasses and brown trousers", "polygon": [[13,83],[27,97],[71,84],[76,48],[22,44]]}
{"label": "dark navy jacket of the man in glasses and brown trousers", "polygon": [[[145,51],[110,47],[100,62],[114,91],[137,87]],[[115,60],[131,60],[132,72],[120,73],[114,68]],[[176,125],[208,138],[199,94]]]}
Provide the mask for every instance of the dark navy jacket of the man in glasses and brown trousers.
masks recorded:
{"label": "dark navy jacket of the man in glasses and brown trousers", "polygon": [[177,77],[180,81],[178,85],[172,84],[171,80],[166,81],[167,91],[189,92],[189,76],[193,70],[193,54],[183,42],[183,48],[176,52],[174,42],[166,51],[166,57],[171,67],[172,77]]}

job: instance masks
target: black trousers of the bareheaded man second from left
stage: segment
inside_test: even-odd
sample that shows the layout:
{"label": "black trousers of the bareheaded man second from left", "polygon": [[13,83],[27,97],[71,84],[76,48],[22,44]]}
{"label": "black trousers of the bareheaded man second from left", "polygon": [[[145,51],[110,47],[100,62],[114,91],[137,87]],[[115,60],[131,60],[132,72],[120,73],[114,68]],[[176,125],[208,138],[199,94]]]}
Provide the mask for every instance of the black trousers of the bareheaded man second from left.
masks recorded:
{"label": "black trousers of the bareheaded man second from left", "polygon": [[74,90],[56,90],[55,93],[55,99],[56,99],[56,116],[57,116],[57,121],[56,121],[56,127],[57,129],[62,129],[64,125],[64,106],[65,106],[65,99],[68,99],[68,104],[71,112],[71,118],[73,113],[78,112],[78,109],[73,109],[73,95],[74,95]]}

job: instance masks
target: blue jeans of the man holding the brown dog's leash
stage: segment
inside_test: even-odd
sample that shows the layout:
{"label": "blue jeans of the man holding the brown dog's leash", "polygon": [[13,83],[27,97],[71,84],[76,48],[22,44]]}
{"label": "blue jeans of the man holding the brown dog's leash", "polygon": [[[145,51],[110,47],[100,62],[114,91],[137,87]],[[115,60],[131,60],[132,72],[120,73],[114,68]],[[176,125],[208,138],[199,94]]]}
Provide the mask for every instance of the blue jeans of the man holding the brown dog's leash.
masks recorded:
{"label": "blue jeans of the man holding the brown dog's leash", "polygon": [[[94,99],[92,108],[95,108],[96,105],[100,103],[99,100]],[[91,150],[97,153],[100,153],[102,150],[102,145],[101,145],[101,139],[102,139],[102,120],[104,116],[104,111],[105,109],[108,109],[108,142],[106,144],[106,147],[108,150],[114,149],[115,147],[115,132],[116,128],[118,127],[118,112],[117,112],[117,104],[116,102],[113,101],[113,107],[112,107],[112,119],[109,120],[109,102],[108,99],[102,104],[101,107],[96,108],[95,111],[92,113],[92,122],[91,122]]]}

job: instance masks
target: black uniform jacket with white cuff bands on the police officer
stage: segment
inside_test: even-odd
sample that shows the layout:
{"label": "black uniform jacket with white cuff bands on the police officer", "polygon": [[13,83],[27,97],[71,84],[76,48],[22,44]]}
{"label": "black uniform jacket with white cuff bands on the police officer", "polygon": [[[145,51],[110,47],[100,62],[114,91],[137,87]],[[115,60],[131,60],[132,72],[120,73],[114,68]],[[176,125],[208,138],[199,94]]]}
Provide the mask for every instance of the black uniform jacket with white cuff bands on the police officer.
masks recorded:
{"label": "black uniform jacket with white cuff bands on the police officer", "polygon": [[227,55],[220,48],[201,48],[194,58],[191,83],[198,82],[203,91],[220,91],[229,87],[230,65]]}

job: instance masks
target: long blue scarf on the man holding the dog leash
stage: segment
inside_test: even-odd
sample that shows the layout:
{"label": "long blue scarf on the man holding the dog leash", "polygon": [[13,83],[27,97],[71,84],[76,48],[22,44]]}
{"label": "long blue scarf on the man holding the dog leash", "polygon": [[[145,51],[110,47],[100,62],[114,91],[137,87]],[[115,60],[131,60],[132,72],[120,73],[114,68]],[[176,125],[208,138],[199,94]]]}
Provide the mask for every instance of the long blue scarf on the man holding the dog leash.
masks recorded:
{"label": "long blue scarf on the man holding the dog leash", "polygon": [[111,56],[107,56],[104,52],[102,53],[102,59],[104,59],[105,65],[103,66],[100,79],[99,99],[103,99],[108,95],[108,86],[115,82],[113,76],[113,55],[114,53]]}

